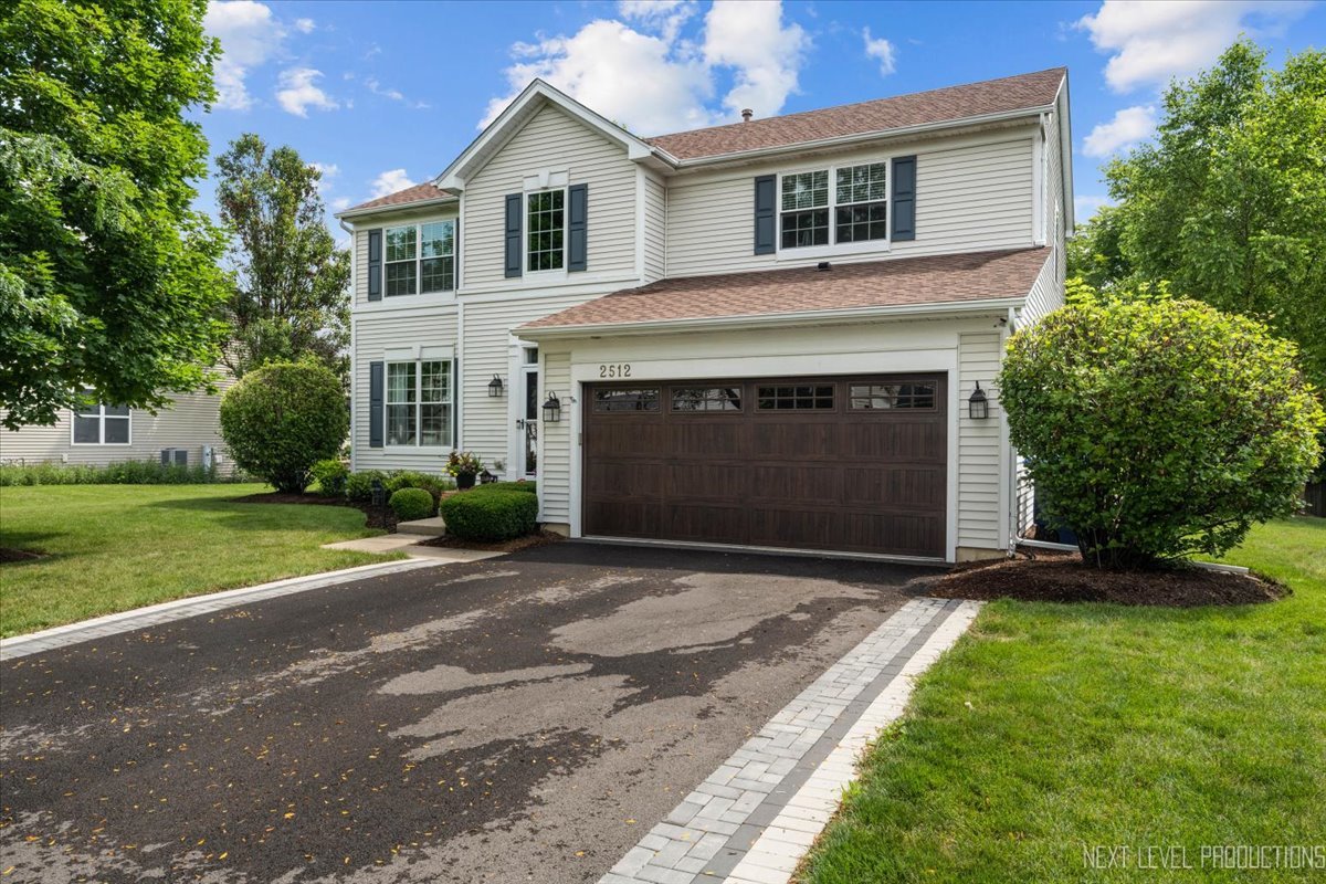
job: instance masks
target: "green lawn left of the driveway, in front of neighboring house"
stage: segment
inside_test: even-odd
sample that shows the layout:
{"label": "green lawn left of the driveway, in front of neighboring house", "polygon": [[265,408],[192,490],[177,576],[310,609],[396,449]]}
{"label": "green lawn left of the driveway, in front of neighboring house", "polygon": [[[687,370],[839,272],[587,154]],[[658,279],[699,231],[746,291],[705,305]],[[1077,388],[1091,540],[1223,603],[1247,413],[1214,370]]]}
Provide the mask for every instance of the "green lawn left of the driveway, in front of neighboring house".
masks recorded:
{"label": "green lawn left of the driveway, in front of neighboring house", "polygon": [[386,558],[318,549],[367,537],[349,506],[232,504],[264,485],[0,488],[0,636]]}

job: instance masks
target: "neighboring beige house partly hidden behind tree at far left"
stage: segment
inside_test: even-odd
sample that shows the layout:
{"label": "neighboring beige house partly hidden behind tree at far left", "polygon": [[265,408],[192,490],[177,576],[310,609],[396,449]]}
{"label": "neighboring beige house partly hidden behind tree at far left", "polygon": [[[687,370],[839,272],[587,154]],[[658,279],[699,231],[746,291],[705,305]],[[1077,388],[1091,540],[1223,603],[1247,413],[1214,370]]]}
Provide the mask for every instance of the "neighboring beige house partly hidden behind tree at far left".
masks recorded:
{"label": "neighboring beige house partly hidden behind tree at far left", "polygon": [[152,460],[187,467],[233,467],[221,441],[220,392],[235,380],[215,379],[219,394],[176,394],[172,408],[152,415],[141,408],[97,404],[64,410],[49,427],[29,424],[0,429],[0,463],[64,463],[105,467],[123,460]]}

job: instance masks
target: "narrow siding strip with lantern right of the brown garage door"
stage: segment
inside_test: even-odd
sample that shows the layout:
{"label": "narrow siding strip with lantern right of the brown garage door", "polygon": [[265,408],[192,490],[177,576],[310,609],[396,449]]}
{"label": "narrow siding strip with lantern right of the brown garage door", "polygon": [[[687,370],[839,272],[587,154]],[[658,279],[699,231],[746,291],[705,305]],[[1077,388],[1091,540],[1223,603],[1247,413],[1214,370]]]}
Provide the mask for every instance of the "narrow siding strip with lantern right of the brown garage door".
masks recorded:
{"label": "narrow siding strip with lantern right of the brown garage door", "polygon": [[[1000,489],[1001,424],[998,398],[993,388],[1002,354],[997,331],[959,337],[957,347],[957,546],[1001,549]],[[967,398],[980,382],[989,396],[989,417],[972,420]]]}

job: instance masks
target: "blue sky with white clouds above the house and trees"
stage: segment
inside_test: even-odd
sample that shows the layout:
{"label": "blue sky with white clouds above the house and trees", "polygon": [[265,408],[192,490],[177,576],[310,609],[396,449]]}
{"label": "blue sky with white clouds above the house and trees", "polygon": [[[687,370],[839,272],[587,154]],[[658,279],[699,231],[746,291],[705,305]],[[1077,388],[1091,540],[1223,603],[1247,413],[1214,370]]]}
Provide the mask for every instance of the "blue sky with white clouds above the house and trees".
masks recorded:
{"label": "blue sky with white clouds above the house and trees", "polygon": [[[640,135],[1070,69],[1078,219],[1171,77],[1238,33],[1326,46],[1321,3],[317,3],[213,0],[212,152],[245,131],[325,170],[332,211],[440,172],[533,76]],[[213,207],[212,182],[200,205]]]}

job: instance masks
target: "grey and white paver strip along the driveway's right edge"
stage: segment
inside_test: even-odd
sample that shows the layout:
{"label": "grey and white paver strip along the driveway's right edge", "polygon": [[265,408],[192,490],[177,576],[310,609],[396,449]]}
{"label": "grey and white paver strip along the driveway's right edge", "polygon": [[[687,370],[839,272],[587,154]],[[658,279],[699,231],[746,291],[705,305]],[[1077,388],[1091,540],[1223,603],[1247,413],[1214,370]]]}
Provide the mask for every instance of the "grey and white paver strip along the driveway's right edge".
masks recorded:
{"label": "grey and white paver strip along the driveway's right edge", "polygon": [[912,681],[980,604],[912,599],[747,741],[599,884],[785,884],[855,779],[855,761],[902,714]]}

